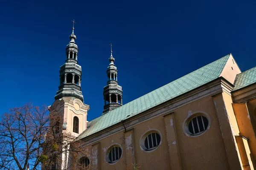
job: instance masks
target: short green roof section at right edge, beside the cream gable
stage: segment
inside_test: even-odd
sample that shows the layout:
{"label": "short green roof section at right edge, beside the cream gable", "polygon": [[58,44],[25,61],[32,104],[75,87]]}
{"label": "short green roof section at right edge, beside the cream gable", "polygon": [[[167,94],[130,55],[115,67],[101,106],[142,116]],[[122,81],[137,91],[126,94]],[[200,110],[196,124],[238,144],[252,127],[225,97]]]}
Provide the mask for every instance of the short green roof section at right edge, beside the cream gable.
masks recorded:
{"label": "short green roof section at right edge, beside the cream gable", "polygon": [[236,75],[233,91],[244,88],[256,82],[256,67]]}

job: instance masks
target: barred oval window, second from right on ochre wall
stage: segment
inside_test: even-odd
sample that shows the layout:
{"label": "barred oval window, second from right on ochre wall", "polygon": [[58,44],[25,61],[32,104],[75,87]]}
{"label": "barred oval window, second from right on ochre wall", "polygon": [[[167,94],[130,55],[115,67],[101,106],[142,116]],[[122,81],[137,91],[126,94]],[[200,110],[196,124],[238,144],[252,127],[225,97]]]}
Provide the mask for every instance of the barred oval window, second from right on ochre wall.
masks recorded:
{"label": "barred oval window, second from right on ochre wall", "polygon": [[150,133],[146,138],[145,138],[145,147],[147,150],[152,150],[156,148],[161,141],[161,137],[158,133]]}

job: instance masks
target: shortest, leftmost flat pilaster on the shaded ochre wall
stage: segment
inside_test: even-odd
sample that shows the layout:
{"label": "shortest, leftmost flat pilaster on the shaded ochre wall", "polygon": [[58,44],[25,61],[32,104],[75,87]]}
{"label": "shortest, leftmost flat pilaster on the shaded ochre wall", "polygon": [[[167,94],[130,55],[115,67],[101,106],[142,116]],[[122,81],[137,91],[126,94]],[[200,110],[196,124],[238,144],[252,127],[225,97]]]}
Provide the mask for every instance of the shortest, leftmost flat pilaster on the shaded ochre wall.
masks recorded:
{"label": "shortest, leftmost flat pilaster on the shaded ochre wall", "polygon": [[92,170],[100,170],[100,142],[92,145]]}

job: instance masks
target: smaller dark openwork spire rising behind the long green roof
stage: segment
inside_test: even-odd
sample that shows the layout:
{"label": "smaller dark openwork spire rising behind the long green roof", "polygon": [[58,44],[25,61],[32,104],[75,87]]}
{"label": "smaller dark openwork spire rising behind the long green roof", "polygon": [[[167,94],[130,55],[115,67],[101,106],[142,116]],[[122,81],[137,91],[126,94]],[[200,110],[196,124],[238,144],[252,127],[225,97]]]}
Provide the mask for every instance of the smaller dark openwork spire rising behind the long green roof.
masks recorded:
{"label": "smaller dark openwork spire rising behind the long green roof", "polygon": [[108,113],[109,111],[113,111],[115,108],[122,106],[122,87],[118,85],[117,82],[117,69],[114,64],[114,57],[112,55],[112,47],[111,48],[111,56],[108,59],[110,64],[107,69],[107,85],[103,88],[103,96],[104,96],[104,110],[102,114]]}

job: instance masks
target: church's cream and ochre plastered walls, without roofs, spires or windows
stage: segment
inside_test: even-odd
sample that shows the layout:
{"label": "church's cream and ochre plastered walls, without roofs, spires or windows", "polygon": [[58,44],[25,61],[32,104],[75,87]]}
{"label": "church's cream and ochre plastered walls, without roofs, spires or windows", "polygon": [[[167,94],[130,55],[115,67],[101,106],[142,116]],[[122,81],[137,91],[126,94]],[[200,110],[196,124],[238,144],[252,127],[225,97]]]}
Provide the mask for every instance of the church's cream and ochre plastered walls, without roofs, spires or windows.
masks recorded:
{"label": "church's cream and ochre plastered walls, without roofs, spires or windows", "polygon": [[[81,139],[81,147],[89,150],[84,155],[90,160],[89,169],[133,170],[138,164],[139,170],[254,170],[256,85],[232,93],[239,73],[231,56],[218,79]],[[86,129],[88,109],[72,98],[56,100],[50,107],[63,115],[67,132],[73,133],[73,117],[79,118],[75,137]],[[187,126],[196,115],[205,116],[208,127],[191,136]],[[150,132],[160,135],[160,144],[145,151],[143,136]],[[111,164],[108,152],[113,146],[121,147],[122,156]]]}

